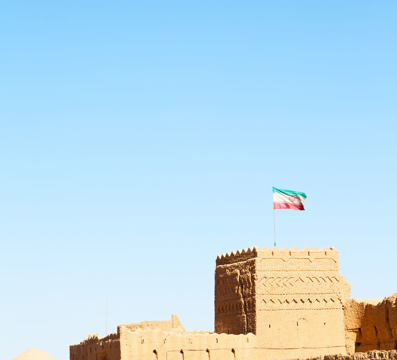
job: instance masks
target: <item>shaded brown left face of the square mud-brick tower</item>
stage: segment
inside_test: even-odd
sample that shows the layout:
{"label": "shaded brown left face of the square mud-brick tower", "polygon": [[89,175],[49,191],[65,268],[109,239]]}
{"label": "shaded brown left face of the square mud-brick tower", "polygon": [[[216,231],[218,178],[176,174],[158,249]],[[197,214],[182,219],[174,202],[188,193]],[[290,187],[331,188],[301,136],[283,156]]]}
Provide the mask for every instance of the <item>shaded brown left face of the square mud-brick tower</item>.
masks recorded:
{"label": "shaded brown left face of the square mud-brick tower", "polygon": [[256,331],[256,250],[218,256],[215,269],[215,331],[248,334]]}

